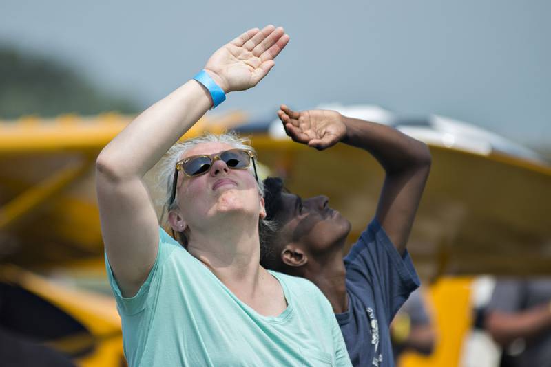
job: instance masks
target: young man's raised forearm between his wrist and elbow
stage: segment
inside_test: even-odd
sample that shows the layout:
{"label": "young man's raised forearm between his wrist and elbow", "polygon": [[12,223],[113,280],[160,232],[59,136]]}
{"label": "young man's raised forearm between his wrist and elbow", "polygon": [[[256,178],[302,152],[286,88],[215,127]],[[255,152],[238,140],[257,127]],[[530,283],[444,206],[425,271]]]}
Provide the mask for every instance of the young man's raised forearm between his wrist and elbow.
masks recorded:
{"label": "young man's raised forearm between his wrist and elbow", "polygon": [[388,175],[430,164],[426,144],[390,126],[346,116],[342,116],[342,120],[346,125],[342,142],[371,153]]}

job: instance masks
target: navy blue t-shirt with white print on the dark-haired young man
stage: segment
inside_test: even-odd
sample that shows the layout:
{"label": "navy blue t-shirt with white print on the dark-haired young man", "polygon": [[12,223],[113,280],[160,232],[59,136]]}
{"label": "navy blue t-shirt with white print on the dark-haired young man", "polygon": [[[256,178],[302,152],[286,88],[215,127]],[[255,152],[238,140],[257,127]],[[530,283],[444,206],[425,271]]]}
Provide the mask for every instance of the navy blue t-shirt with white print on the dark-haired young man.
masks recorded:
{"label": "navy blue t-shirt with white print on the dark-haired young man", "polygon": [[354,366],[394,366],[389,327],[419,287],[407,252],[397,252],[377,219],[344,258],[349,309],[336,315]]}

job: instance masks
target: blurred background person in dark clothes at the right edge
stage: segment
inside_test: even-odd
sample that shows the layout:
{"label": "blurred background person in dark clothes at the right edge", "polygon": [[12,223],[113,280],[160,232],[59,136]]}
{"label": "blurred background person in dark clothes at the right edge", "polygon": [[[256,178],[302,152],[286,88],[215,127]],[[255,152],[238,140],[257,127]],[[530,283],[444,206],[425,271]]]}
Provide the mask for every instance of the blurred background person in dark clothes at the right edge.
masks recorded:
{"label": "blurred background person in dark clothes at the right edge", "polygon": [[551,366],[551,280],[498,280],[485,326],[503,348],[501,366]]}

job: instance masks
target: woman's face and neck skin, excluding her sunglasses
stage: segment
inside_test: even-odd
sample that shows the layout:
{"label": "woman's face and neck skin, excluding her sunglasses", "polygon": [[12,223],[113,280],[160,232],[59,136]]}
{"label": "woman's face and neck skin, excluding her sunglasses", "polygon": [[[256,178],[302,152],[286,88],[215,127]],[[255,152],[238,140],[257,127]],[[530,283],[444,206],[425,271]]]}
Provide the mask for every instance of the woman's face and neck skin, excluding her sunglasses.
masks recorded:
{"label": "woman's face and neck skin, excluding her sunglasses", "polygon": [[[199,144],[180,159],[232,148],[221,143]],[[177,192],[178,208],[169,213],[169,223],[178,232],[187,231],[189,253],[249,306],[269,315],[284,311],[287,303],[280,283],[259,264],[258,219],[266,211],[250,171],[232,170],[218,159],[205,175],[179,173]]]}

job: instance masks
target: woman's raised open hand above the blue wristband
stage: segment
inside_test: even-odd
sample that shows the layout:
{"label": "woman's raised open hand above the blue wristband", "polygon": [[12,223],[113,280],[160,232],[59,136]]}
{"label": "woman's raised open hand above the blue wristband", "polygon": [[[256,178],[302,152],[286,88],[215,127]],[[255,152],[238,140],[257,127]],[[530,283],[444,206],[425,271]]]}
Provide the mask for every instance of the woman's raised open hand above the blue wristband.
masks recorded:
{"label": "woman's raised open hand above the blue wristband", "polygon": [[253,28],[214,52],[205,70],[225,93],[244,91],[268,74],[275,65],[273,59],[288,42],[282,27]]}

